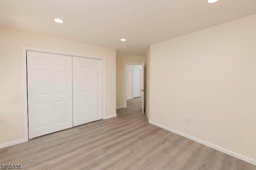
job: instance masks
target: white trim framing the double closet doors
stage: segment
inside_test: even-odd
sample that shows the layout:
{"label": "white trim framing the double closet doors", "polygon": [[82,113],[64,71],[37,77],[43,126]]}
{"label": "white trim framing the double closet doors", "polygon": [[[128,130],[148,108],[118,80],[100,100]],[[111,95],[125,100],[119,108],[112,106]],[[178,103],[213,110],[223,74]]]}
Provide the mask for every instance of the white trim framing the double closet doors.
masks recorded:
{"label": "white trim framing the double closet doors", "polygon": [[[27,55],[26,51],[37,51],[44,53],[53,53],[60,55],[69,55],[76,57],[86,57],[93,59],[102,59],[103,64],[103,119],[106,119],[106,107],[105,107],[105,59],[103,57],[92,56],[92,55],[82,55],[77,53],[68,53],[63,51],[53,51],[48,49],[40,49],[34,47],[22,46],[22,89],[23,89],[23,121],[24,121],[24,140],[19,140],[19,143],[28,141],[28,92],[27,92]],[[18,143],[15,143],[18,144]]]}

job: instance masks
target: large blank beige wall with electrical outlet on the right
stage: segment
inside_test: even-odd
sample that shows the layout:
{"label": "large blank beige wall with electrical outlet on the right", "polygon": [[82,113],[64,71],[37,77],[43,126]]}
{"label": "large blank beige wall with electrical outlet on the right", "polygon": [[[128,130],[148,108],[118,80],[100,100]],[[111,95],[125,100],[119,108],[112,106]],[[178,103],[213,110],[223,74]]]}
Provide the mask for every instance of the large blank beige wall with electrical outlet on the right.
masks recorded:
{"label": "large blank beige wall with electrical outlet on the right", "polygon": [[256,15],[151,45],[150,63],[150,121],[256,160]]}

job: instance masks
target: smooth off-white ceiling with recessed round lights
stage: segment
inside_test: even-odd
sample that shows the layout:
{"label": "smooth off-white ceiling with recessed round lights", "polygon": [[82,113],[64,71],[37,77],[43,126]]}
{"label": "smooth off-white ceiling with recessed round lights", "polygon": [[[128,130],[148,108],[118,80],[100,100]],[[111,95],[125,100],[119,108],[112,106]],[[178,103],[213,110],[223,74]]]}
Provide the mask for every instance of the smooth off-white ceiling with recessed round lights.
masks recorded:
{"label": "smooth off-white ceiling with recessed round lights", "polygon": [[144,55],[150,44],[252,14],[256,0],[0,0],[0,25],[114,48],[118,55]]}

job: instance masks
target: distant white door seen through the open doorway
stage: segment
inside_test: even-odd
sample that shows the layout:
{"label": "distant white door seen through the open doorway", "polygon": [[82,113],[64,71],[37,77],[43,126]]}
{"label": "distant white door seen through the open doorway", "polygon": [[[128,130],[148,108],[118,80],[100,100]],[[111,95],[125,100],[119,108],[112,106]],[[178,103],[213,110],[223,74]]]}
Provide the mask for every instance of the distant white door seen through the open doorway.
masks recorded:
{"label": "distant white door seen through the open doorway", "polygon": [[140,69],[132,69],[132,97],[140,97]]}

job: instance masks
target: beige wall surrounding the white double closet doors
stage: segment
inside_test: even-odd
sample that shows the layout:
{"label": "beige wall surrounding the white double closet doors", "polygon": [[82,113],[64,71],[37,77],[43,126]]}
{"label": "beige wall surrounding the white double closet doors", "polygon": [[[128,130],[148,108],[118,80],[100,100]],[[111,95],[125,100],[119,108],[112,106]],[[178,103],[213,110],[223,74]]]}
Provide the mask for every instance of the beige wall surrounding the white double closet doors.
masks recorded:
{"label": "beige wall surrounding the white double closet doors", "polygon": [[24,138],[22,46],[104,57],[106,116],[116,114],[116,50],[0,26],[0,144]]}

